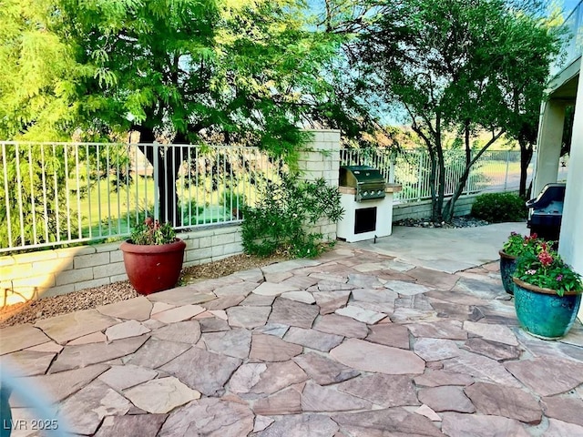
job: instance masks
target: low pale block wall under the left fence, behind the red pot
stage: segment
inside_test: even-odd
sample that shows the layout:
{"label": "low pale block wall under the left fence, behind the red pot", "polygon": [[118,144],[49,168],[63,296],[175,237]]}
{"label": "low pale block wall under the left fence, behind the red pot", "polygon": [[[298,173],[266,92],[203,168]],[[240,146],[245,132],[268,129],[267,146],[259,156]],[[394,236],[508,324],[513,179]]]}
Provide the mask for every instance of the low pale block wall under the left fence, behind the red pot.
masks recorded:
{"label": "low pale block wall under the left fence, behind the red pot", "polygon": [[[184,267],[242,253],[240,226],[179,234]],[[0,307],[128,279],[119,242],[0,257]]]}

